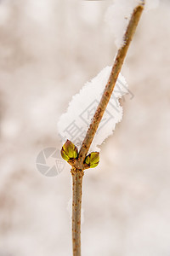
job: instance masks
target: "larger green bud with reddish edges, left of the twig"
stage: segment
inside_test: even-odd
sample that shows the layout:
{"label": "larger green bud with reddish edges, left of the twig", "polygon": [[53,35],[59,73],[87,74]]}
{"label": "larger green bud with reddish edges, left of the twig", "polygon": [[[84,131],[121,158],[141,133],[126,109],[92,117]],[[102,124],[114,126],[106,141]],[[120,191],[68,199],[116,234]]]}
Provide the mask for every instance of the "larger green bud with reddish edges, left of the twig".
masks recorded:
{"label": "larger green bud with reddish edges, left of the twig", "polygon": [[66,143],[61,148],[61,156],[64,160],[68,161],[73,158],[77,158],[78,149],[77,147],[71,143],[71,141],[67,140]]}

